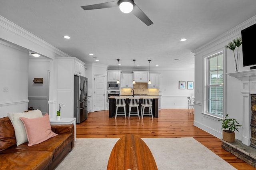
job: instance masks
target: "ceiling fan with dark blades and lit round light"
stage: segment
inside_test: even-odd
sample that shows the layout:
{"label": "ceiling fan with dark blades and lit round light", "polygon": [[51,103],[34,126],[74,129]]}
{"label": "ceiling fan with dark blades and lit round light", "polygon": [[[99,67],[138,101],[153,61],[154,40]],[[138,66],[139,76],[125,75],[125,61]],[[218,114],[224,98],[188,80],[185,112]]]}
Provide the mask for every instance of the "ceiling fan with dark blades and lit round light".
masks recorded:
{"label": "ceiling fan with dark blades and lit round light", "polygon": [[134,3],[134,0],[117,0],[112,2],[105,2],[101,4],[87,5],[81,7],[84,10],[95,10],[101,8],[112,8],[117,6],[119,6],[120,10],[124,13],[132,12],[132,14],[134,14],[147,26],[153,24],[153,22],[148,18],[148,16],[146,16],[146,14]]}

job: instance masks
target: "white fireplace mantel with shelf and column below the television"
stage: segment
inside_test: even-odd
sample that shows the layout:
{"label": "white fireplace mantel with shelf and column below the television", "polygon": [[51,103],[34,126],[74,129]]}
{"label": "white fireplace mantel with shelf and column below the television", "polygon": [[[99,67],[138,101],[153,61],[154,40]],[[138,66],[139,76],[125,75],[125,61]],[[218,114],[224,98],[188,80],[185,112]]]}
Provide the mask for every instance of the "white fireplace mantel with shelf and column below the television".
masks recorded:
{"label": "white fireplace mantel with shelf and column below the television", "polygon": [[242,143],[249,146],[251,138],[250,121],[252,118],[250,95],[256,94],[256,69],[227,73],[226,75],[242,81]]}

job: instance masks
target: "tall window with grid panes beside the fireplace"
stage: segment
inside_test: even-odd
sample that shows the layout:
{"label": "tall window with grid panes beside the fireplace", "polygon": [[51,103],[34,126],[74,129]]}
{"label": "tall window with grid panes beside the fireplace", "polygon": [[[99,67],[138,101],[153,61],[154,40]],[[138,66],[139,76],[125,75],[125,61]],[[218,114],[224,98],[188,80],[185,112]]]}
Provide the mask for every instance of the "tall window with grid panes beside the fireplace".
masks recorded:
{"label": "tall window with grid panes beside the fireplace", "polygon": [[223,116],[223,53],[208,58],[208,113]]}

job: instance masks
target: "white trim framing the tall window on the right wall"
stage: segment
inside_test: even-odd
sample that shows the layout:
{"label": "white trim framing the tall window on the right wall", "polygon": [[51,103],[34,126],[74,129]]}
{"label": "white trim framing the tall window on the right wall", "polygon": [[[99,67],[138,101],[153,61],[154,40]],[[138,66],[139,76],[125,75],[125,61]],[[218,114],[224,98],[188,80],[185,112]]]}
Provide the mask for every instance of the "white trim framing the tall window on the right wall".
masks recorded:
{"label": "white trim framing the tall window on the right wall", "polygon": [[[208,58],[213,57],[214,55],[218,55],[223,53],[223,116],[218,116],[218,115],[213,115],[211,113],[208,113]],[[226,50],[225,48],[216,50],[212,53],[209,53],[208,55],[204,55],[204,67],[203,67],[203,73],[204,73],[204,81],[203,81],[203,88],[204,93],[203,93],[203,111],[202,113],[211,117],[223,119],[223,117],[226,116]]]}

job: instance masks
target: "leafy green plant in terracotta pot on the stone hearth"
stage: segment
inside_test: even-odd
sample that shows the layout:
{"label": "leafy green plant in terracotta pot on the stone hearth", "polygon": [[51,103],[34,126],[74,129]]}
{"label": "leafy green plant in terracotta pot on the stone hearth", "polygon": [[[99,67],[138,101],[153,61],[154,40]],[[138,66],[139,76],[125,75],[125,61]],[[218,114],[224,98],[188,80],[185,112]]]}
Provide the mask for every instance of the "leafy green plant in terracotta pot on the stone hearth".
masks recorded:
{"label": "leafy green plant in terracotta pot on the stone hearth", "polygon": [[235,130],[238,131],[238,127],[241,127],[242,125],[239,125],[238,121],[236,119],[228,119],[228,114],[226,115],[225,119],[219,120],[222,121],[221,129],[222,130],[222,138],[223,140],[227,142],[234,142],[235,141]]}

